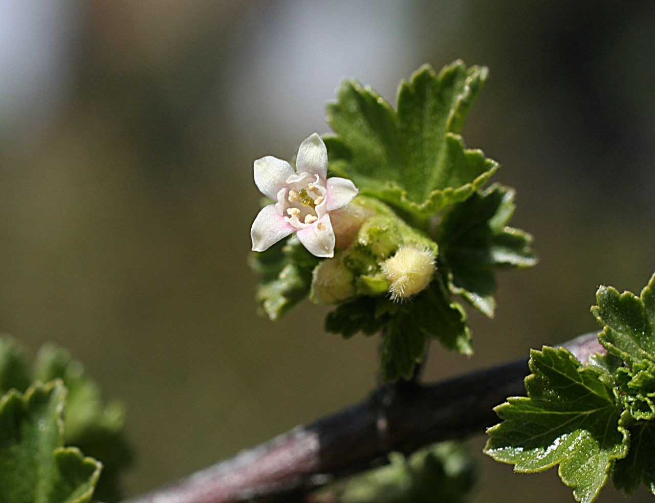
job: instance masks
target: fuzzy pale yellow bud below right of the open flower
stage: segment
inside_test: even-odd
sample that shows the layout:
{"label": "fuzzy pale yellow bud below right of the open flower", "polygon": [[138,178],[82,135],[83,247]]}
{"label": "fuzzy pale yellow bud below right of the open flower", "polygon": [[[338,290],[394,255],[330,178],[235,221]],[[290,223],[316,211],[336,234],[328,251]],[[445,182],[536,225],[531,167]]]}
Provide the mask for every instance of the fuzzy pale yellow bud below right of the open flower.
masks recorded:
{"label": "fuzzy pale yellow bud below right of the open flower", "polygon": [[434,272],[434,253],[427,248],[406,246],[382,264],[394,300],[411,297],[430,283]]}

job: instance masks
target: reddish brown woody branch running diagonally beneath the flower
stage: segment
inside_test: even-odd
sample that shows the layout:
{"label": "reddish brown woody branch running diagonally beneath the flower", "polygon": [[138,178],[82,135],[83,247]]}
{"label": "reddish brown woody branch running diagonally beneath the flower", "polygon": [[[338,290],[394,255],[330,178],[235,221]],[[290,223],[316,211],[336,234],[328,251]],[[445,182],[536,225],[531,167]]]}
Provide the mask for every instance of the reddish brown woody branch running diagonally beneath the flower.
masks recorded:
{"label": "reddish brown woody branch running diagonally beneath the flower", "polygon": [[[562,346],[582,362],[604,352],[596,333]],[[498,421],[493,407],[525,393],[527,360],[424,386],[381,386],[357,405],[298,426],[170,485],[124,503],[290,502],[390,451],[412,453],[432,442],[481,433]]]}

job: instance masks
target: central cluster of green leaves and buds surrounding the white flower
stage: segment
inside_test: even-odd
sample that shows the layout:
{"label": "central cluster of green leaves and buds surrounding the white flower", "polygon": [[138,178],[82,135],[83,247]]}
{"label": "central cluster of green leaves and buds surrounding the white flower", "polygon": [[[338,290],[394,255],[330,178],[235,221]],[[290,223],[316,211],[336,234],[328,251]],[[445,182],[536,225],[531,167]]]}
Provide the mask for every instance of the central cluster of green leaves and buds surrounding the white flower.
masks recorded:
{"label": "central cluster of green leaves and buds surrounding the white flower", "polygon": [[[360,190],[345,209],[358,227],[333,258],[312,257],[296,238],[252,255],[261,274],[257,300],[271,319],[308,293],[337,304],[327,331],[382,334],[384,382],[409,379],[428,338],[472,354],[464,308],[452,297],[493,316],[496,269],[536,263],[531,236],[508,227],[514,191],[482,190],[498,164],[464,147],[464,121],[486,80],[485,67],[457,61],[435,73],[424,65],[400,84],[396,110],[369,87],[341,84],[327,105],[335,135],[324,141],[331,175]],[[399,260],[407,272],[393,269],[396,253],[408,247],[408,257],[429,265],[412,269]],[[405,284],[409,293],[400,295]]]}

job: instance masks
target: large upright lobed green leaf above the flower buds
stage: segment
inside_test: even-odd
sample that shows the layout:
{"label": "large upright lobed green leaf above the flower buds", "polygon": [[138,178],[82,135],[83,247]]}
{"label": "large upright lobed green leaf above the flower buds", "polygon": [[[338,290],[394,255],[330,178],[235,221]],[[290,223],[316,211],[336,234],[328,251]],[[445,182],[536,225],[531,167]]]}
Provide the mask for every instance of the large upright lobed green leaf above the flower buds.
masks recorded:
{"label": "large upright lobed green leaf above the flower buds", "polygon": [[467,150],[459,133],[487,79],[458,61],[425,65],[398,90],[398,112],[371,88],[345,81],[327,105],[336,137],[324,138],[333,174],[409,214],[435,214],[482,187],[498,164]]}

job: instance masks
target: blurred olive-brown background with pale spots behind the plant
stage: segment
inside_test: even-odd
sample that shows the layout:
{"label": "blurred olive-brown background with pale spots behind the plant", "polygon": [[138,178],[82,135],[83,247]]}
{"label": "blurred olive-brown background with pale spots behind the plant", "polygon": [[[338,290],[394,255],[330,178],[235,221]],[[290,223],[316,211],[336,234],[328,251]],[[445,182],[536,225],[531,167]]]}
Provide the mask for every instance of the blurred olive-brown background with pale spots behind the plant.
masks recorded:
{"label": "blurred olive-brown background with pale spots behind the plant", "polygon": [[[0,329],[126,402],[128,494],[375,386],[377,341],[324,333],[326,308],[255,314],[252,162],[327,132],[343,77],[395,102],[457,58],[491,69],[464,138],[541,263],[501,275],[495,320],[471,313],[472,358],[433,345],[430,381],[593,330],[599,284],[655,270],[655,3],[0,0]],[[475,502],[573,501],[553,470],[477,458]]]}

